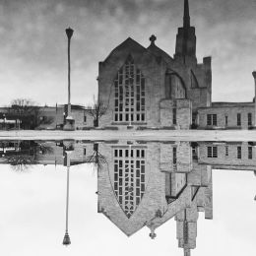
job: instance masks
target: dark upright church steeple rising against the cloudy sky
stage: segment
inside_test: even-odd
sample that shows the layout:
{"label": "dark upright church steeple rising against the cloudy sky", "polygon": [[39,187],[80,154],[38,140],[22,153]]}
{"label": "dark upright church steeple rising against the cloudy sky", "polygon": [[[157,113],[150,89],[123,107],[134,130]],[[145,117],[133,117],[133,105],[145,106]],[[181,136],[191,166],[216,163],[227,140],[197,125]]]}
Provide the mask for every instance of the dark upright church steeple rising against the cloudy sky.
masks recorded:
{"label": "dark upright church steeple rising against the cloudy sky", "polygon": [[188,0],[184,0],[183,27],[178,29],[174,58],[186,65],[197,62],[196,32],[195,28],[190,26]]}

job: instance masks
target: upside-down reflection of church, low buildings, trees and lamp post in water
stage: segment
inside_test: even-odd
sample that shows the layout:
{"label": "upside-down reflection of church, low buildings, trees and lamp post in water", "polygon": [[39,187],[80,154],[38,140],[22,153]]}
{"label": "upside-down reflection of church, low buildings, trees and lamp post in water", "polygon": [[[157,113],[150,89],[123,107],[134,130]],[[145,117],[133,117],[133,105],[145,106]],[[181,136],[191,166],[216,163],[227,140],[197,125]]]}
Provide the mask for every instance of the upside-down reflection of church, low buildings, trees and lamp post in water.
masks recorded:
{"label": "upside-down reflection of church, low buildings, trees and lamp post in water", "polygon": [[196,247],[199,213],[213,220],[213,169],[251,171],[252,177],[256,173],[253,142],[6,141],[0,145],[0,162],[19,170],[33,164],[67,167],[64,245],[71,243],[69,175],[74,164],[95,164],[98,213],[128,236],[147,226],[153,239],[160,225],[174,218],[184,255]]}

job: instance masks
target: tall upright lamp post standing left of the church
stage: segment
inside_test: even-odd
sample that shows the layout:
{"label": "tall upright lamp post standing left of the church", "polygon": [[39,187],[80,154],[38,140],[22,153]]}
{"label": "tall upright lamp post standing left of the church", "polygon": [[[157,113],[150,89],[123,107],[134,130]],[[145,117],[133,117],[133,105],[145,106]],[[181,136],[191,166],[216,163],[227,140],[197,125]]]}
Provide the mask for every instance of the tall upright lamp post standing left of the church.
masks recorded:
{"label": "tall upright lamp post standing left of the church", "polygon": [[68,36],[68,109],[66,116],[66,123],[64,125],[64,130],[75,130],[75,122],[73,117],[71,116],[71,103],[70,103],[70,41],[73,35],[73,30],[68,28],[66,29],[66,34]]}

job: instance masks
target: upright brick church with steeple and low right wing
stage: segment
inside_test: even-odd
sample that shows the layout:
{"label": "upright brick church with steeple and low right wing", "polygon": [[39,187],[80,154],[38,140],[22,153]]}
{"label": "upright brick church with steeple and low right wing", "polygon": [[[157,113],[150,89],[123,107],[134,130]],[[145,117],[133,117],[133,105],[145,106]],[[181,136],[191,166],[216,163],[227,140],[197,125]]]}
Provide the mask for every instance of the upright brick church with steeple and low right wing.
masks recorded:
{"label": "upright brick church with steeple and low right wing", "polygon": [[[152,35],[146,48],[129,37],[99,62],[98,100],[107,108],[99,126],[118,129],[253,126],[253,102],[235,103],[235,112],[230,112],[228,103],[212,104],[212,59],[197,61],[196,33],[190,26],[188,0],[184,1],[183,27],[176,35],[174,56],[161,50],[156,40]],[[218,121],[224,118],[224,123]],[[240,122],[228,124],[226,118],[229,121],[240,118]]]}

